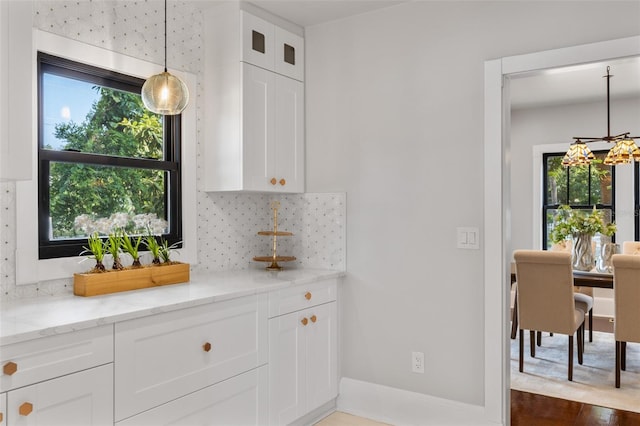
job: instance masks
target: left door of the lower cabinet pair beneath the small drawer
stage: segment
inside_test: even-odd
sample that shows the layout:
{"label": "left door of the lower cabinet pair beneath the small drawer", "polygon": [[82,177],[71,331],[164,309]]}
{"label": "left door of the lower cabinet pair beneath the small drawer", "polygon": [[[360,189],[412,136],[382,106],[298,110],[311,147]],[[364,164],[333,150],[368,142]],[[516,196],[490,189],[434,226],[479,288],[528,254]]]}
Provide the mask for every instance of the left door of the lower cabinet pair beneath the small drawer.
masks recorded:
{"label": "left door of the lower cabinet pair beneath the small drawer", "polygon": [[[284,425],[305,414],[305,311],[269,320],[269,424]],[[308,319],[307,319],[308,321]]]}

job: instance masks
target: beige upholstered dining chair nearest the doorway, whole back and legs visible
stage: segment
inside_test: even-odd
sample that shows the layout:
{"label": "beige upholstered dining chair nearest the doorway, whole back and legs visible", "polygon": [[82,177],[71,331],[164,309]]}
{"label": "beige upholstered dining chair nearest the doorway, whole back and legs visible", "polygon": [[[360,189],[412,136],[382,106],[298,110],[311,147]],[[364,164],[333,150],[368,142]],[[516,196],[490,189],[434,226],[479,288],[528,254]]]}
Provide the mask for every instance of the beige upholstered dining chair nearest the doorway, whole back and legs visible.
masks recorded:
{"label": "beige upholstered dining chair nearest the doorway, whole back and legs visible", "polygon": [[535,331],[566,334],[569,337],[567,377],[572,381],[574,335],[578,340],[578,363],[582,364],[584,311],[577,308],[574,301],[571,254],[516,250],[513,257],[518,279],[519,370],[524,371],[525,329],[529,330],[531,357],[535,357]]}

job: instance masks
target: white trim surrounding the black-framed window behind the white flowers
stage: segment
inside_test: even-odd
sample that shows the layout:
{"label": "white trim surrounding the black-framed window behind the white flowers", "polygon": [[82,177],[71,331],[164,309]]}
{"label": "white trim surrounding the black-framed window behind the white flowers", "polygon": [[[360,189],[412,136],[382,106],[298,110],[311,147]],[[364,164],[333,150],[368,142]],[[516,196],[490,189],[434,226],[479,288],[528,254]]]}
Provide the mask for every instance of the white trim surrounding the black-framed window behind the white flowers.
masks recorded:
{"label": "white trim surrounding the black-framed window behind the white flowers", "polygon": [[[147,78],[162,71],[162,65],[142,61],[100,47],[60,37],[37,29],[33,30],[31,70],[24,73],[31,76],[31,103],[28,114],[32,118],[31,134],[25,137],[31,143],[31,179],[16,183],[16,284],[31,284],[40,281],[70,278],[75,272],[88,269],[87,264],[79,264],[80,257],[61,259],[38,259],[38,167],[37,167],[37,52],[42,51],[100,68],[123,74]],[[25,42],[26,43],[26,42]],[[31,42],[28,42],[31,45]],[[191,93],[195,93],[196,77],[193,74],[170,70],[182,78]],[[176,254],[175,260],[197,262],[196,230],[196,105],[195,96],[182,113],[182,226],[184,248]],[[29,130],[29,129],[27,129]]]}

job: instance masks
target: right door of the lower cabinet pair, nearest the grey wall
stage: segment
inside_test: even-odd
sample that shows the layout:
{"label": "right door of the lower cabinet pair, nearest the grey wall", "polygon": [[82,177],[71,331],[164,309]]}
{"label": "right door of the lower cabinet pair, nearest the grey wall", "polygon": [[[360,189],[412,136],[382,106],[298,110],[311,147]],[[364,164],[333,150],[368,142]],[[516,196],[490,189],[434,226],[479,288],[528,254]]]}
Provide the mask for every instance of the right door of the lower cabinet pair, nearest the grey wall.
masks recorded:
{"label": "right door of the lower cabinet pair, nearest the grey wall", "polygon": [[307,412],[338,395],[336,303],[308,309],[305,327],[307,353]]}

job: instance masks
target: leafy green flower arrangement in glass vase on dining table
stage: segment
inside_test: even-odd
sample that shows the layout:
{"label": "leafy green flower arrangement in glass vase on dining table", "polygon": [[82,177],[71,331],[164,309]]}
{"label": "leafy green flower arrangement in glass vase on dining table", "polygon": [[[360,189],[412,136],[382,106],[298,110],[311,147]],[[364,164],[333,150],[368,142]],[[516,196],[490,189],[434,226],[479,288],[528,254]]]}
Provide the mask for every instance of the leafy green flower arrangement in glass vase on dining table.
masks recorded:
{"label": "leafy green flower arrangement in glass vase on dining table", "polygon": [[616,232],[616,224],[605,223],[603,212],[596,210],[595,206],[590,213],[582,210],[573,210],[562,205],[554,216],[554,227],[551,232],[551,241],[562,242],[577,234],[595,235],[597,233],[612,236]]}

